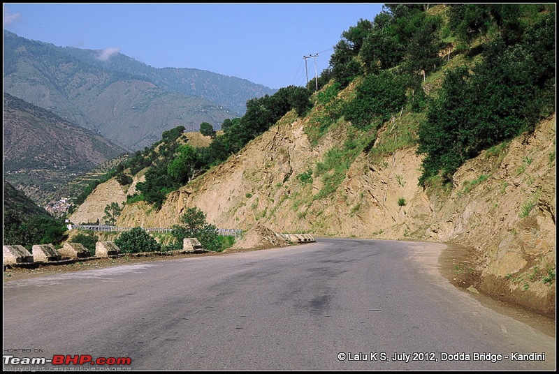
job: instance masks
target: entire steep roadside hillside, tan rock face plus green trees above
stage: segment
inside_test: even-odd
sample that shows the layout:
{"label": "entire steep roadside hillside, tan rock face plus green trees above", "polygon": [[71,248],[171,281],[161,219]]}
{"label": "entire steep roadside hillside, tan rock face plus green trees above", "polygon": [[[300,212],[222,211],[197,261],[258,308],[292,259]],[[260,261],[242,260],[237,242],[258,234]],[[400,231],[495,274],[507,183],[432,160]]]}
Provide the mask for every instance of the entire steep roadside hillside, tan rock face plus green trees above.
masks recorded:
{"label": "entire steep roadside hillside, tan rock face plus green trees above", "polygon": [[117,224],[198,207],[222,228],[455,242],[474,251],[457,277],[552,315],[555,53],[553,4],[386,5],[342,33],[318,91],[254,99],[209,147],[142,164]]}

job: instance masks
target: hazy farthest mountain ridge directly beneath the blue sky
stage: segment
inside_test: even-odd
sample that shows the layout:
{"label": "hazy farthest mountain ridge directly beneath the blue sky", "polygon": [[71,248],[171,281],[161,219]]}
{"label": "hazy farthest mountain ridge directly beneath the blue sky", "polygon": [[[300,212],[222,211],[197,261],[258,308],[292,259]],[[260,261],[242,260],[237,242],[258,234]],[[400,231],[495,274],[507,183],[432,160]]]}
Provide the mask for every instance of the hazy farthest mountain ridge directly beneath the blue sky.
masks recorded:
{"label": "hazy farthest mountain ridge directly beneath the blue sky", "polygon": [[219,129],[250,98],[275,92],[247,80],[196,69],[157,69],[115,53],[57,47],[4,31],[5,92],[142,149],[164,130],[201,122]]}

